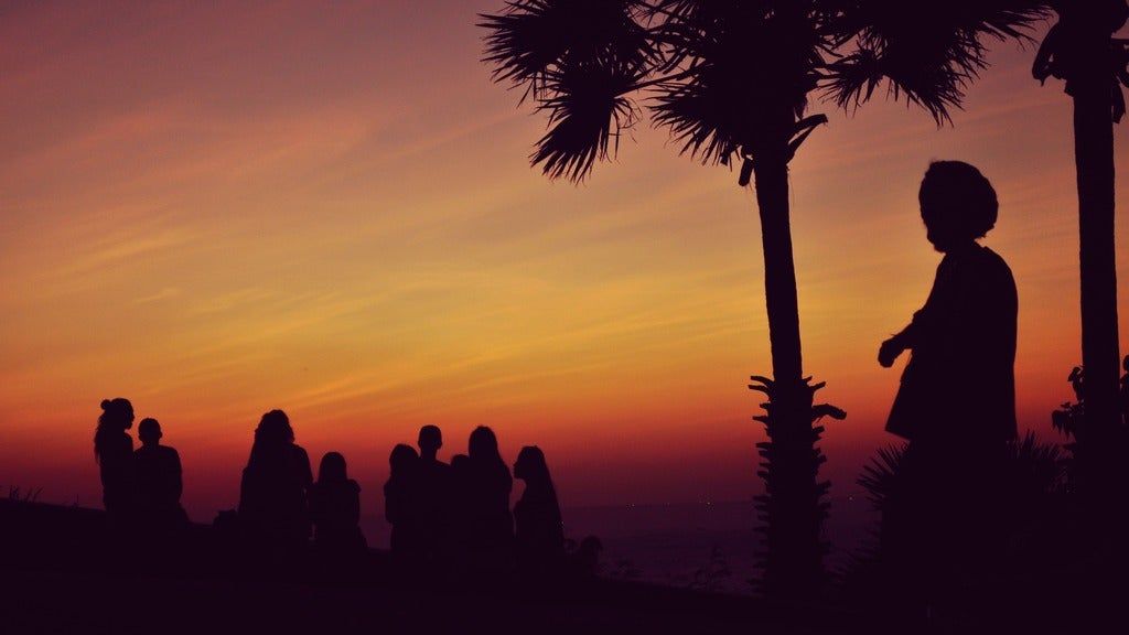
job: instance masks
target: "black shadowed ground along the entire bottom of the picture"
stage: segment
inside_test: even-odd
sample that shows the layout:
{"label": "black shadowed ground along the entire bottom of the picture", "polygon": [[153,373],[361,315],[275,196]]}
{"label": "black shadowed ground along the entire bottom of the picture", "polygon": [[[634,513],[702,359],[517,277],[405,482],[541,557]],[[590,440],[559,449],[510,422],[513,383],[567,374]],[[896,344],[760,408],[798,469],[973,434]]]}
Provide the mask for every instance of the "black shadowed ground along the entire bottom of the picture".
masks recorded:
{"label": "black shadowed ground along the entire bottom of the picture", "polygon": [[1092,584],[1104,576],[1102,563],[1071,567],[1060,588],[1025,582],[1031,576],[983,581],[966,610],[926,619],[882,597],[800,607],[607,580],[552,591],[481,577],[408,580],[379,550],[343,581],[312,557],[264,566],[221,542],[196,525],[175,549],[128,538],[115,547],[102,512],[0,501],[0,632],[912,634],[1129,625],[1124,580]]}

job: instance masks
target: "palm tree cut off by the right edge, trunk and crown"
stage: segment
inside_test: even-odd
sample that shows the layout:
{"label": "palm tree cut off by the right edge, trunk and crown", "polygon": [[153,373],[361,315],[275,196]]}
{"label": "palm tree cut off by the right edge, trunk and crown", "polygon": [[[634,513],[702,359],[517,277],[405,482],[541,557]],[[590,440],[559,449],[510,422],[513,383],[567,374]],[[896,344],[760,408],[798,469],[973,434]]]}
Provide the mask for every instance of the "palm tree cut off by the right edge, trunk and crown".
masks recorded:
{"label": "palm tree cut off by the right edge, trunk and crown", "polygon": [[[1082,269],[1082,362],[1085,416],[1075,432],[1079,486],[1112,485],[1110,470],[1122,450],[1119,400],[1120,351],[1114,251],[1113,124],[1126,112],[1121,84],[1129,86],[1127,45],[1114,38],[1129,18],[1126,0],[1049,0],[1058,23],[1035,56],[1034,76],[1066,80],[1074,99],[1078,171],[1078,236]],[[1093,487],[1091,487],[1093,486]],[[1100,493],[1100,498],[1103,498]]]}

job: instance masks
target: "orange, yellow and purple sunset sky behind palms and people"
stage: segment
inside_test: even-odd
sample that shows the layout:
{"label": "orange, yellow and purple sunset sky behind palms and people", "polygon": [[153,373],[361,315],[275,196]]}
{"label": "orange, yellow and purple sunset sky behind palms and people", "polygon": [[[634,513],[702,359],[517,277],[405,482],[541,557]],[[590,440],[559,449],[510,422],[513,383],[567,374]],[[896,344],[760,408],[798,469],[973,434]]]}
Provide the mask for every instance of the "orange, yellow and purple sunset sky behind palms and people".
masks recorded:
{"label": "orange, yellow and purple sunset sky behind palms and people", "polygon": [[[272,408],[315,461],[345,454],[370,512],[428,423],[444,456],[480,424],[509,460],[539,444],[566,506],[760,490],[763,267],[735,173],[647,124],[580,186],[531,169],[544,120],[480,62],[501,0],[218,5],[0,2],[0,487],[100,505],[98,402],[128,397],[198,520],[235,505]],[[793,163],[793,232],[805,366],[849,414],[824,443],[839,492],[894,441],[902,363],[875,357],[939,260],[931,159],[999,192],[1021,424],[1050,437],[1071,397],[1070,103],[1033,50],[996,49],[953,127],[813,104],[831,124]]]}

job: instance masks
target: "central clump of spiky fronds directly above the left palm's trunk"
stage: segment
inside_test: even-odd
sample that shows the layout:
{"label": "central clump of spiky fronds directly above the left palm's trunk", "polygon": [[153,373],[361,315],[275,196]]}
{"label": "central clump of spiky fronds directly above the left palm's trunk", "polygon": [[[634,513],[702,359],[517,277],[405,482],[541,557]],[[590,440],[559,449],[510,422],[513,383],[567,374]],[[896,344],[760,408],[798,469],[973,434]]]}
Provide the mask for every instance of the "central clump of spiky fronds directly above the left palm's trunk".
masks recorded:
{"label": "central clump of spiky fronds directly above the left palm's trunk", "polygon": [[[805,2],[669,0],[666,46],[677,80],[659,86],[655,124],[681,151],[728,164],[768,145],[781,148],[807,108],[823,66],[819,20]],[[797,9],[799,8],[799,9]]]}

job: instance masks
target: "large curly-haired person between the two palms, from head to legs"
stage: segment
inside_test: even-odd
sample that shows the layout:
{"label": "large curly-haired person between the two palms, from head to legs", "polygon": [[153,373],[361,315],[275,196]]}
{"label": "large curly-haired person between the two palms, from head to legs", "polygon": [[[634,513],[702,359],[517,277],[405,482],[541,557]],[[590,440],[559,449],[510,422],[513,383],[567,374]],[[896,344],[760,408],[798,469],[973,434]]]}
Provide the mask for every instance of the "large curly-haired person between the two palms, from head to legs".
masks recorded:
{"label": "large curly-haired person between the two palms, from head to legs", "polygon": [[[905,492],[883,519],[883,540],[931,565],[991,541],[1001,461],[1016,436],[1018,310],[1007,263],[977,241],[998,216],[996,191],[973,166],[937,162],[919,192],[927,237],[944,254],[925,306],[878,351],[890,367],[905,350],[886,429],[910,441]],[[928,569],[928,567],[917,567]]]}

